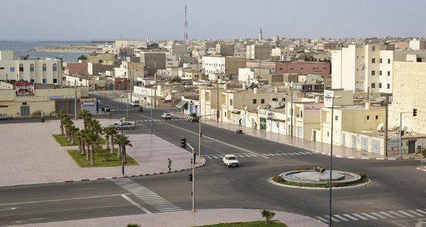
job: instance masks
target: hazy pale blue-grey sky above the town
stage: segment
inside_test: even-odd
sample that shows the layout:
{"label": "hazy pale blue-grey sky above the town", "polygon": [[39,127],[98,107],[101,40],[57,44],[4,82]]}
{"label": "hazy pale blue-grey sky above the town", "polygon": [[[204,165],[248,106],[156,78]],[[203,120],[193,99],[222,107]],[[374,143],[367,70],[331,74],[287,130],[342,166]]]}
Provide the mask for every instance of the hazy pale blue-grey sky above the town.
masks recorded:
{"label": "hazy pale blue-grey sky above the town", "polygon": [[426,36],[425,0],[1,0],[0,40]]}

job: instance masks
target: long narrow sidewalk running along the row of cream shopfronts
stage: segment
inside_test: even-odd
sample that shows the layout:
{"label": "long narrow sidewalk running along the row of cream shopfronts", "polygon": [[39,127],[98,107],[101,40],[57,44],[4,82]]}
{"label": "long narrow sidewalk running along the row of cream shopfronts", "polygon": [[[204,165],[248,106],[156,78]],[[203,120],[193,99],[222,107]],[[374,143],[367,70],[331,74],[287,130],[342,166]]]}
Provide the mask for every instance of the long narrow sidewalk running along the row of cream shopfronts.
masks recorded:
{"label": "long narrow sidewalk running along the row of cream shopfronts", "polygon": [[[180,112],[173,112],[172,114],[179,116],[181,118],[185,118],[184,114]],[[315,142],[312,140],[303,140],[300,138],[293,137],[291,138],[289,135],[282,135],[278,133],[272,133],[263,130],[254,131],[253,128],[248,127],[239,127],[238,125],[217,122],[209,119],[202,119],[202,123],[205,123],[210,126],[224,128],[229,131],[236,132],[237,129],[242,129],[243,133],[246,135],[252,135],[258,138],[263,138],[266,140],[271,140],[277,143],[284,143],[288,145],[292,145],[297,148],[303,148],[306,150],[315,151],[317,153],[321,153],[322,155],[330,155],[330,145],[327,143]],[[361,150],[356,150],[353,148],[344,148],[341,146],[334,145],[333,146],[333,157],[343,157],[350,159],[369,159],[369,160],[406,160],[406,159],[417,159],[421,158],[419,156],[415,157],[414,154],[412,156],[398,157],[398,156],[389,156],[385,157],[384,155],[378,155],[375,153],[368,153]]]}

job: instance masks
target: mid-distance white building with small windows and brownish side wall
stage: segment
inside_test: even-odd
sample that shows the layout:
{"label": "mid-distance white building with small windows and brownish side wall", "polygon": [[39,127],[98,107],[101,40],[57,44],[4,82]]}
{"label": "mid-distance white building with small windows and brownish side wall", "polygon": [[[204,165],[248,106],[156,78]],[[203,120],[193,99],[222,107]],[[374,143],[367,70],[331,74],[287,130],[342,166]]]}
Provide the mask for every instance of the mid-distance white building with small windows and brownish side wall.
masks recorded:
{"label": "mid-distance white building with small windows and brownish side wall", "polygon": [[237,75],[239,68],[244,67],[246,67],[246,58],[244,57],[202,57],[202,69],[206,74]]}

